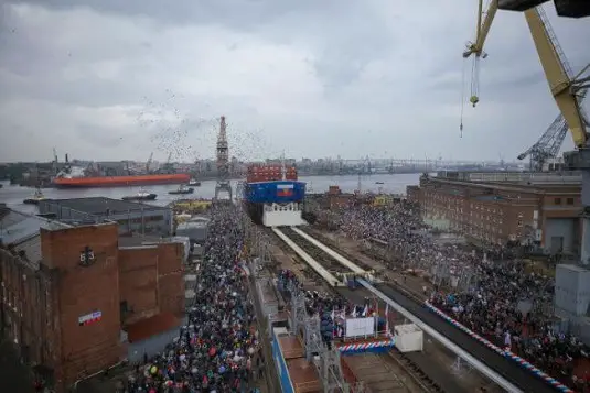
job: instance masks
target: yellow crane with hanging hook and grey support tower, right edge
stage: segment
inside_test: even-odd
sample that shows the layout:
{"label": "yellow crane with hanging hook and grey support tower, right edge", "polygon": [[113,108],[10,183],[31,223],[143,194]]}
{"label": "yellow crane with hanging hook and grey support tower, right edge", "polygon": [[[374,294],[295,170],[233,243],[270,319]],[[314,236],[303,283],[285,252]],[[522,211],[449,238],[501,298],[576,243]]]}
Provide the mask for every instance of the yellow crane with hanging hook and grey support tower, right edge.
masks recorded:
{"label": "yellow crane with hanging hook and grey support tower, right edge", "polygon": [[[470,98],[470,101],[473,106],[479,102],[476,66],[481,57],[486,57],[485,53],[483,52],[483,44],[487,33],[490,32],[492,21],[497,10],[502,9],[500,6],[506,8],[506,4],[509,2],[511,1],[507,0],[492,0],[490,7],[487,8],[485,18],[482,21],[483,0],[479,0],[476,39],[474,43],[470,43],[468,45],[468,50],[463,53],[463,57],[465,58],[472,55],[475,56],[473,68],[474,78],[472,79],[472,96]],[[535,2],[541,3],[543,1],[521,1],[521,6],[527,2],[528,4],[535,6]],[[556,6],[557,2],[558,1],[556,0]],[[517,3],[517,1],[514,0],[512,3]],[[513,10],[516,9],[514,8]],[[583,238],[581,242],[581,262],[583,264],[588,264],[590,263],[590,142],[587,131],[588,128],[590,128],[590,124],[582,112],[580,101],[584,95],[583,90],[590,86],[590,77],[582,76],[586,70],[589,69],[590,64],[586,66],[577,76],[571,77],[571,70],[565,61],[564,52],[557,44],[557,39],[548,24],[547,17],[545,15],[543,9],[540,7],[522,7],[522,10],[525,10],[525,19],[533,36],[545,76],[549,84],[551,95],[554,96],[557,107],[561,112],[565,124],[567,124],[567,128],[569,129],[573,139],[576,151],[564,154],[566,163],[569,167],[580,170],[582,172],[581,200],[583,210],[581,214],[581,219],[583,222]],[[580,17],[582,17],[581,13]],[[473,87],[475,87],[475,89],[473,89]]]}

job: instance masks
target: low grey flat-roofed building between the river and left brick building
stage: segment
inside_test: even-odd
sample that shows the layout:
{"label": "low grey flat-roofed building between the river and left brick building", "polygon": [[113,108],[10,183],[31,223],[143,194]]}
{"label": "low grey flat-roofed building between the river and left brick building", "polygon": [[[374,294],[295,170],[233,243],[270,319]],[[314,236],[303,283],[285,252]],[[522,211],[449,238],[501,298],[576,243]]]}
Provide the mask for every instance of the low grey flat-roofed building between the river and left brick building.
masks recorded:
{"label": "low grey flat-roofed building between the river and left brick building", "polygon": [[172,210],[160,206],[105,197],[46,199],[39,204],[39,212],[62,221],[116,221],[121,234],[172,236]]}

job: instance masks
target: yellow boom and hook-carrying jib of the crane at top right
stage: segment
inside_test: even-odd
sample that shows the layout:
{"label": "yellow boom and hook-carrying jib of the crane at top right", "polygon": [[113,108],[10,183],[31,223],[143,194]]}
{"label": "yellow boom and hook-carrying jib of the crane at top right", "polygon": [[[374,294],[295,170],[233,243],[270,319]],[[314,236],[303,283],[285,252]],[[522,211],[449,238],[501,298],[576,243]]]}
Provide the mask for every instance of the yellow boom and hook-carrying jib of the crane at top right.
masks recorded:
{"label": "yellow boom and hook-carrying jib of the crane at top right", "polygon": [[[501,0],[500,0],[501,1]],[[479,62],[485,58],[483,51],[485,39],[490,33],[490,28],[498,10],[498,0],[491,0],[485,13],[483,12],[483,0],[479,0],[478,26],[475,41],[468,44],[463,57],[475,56],[473,62],[473,75],[471,84],[470,102],[475,107],[480,101],[479,98]],[[548,26],[548,21],[540,8],[532,8],[524,11],[530,35],[535,43],[540,64],[545,70],[545,76],[549,84],[549,89],[555,101],[566,120],[569,131],[573,138],[573,143],[578,149],[586,148],[587,144],[587,120],[582,114],[578,97],[581,89],[588,88],[590,78],[581,77],[589,68],[584,67],[576,77],[569,74],[569,67],[566,65],[565,56],[556,45],[556,37],[553,30]]]}

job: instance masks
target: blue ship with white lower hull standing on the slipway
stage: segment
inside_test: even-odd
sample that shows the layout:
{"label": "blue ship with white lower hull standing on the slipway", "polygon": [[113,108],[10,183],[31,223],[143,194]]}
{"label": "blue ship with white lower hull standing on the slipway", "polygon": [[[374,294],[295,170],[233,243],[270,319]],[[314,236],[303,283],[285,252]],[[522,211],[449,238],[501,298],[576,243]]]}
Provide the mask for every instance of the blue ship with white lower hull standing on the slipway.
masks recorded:
{"label": "blue ship with white lower hull standing on the slipway", "polygon": [[305,183],[297,168],[285,165],[250,165],[246,173],[243,200],[248,215],[265,227],[300,226]]}

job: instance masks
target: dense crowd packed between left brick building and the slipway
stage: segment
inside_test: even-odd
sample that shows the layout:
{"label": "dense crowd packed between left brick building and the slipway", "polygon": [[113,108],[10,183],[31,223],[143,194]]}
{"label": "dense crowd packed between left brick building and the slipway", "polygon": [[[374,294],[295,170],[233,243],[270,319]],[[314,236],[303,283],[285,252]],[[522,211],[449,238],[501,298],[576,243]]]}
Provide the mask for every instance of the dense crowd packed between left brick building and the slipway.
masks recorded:
{"label": "dense crowd packed between left brick building and the slipway", "polygon": [[264,359],[240,260],[244,236],[233,209],[212,208],[186,325],[162,353],[137,364],[127,392],[258,392],[254,379]]}

